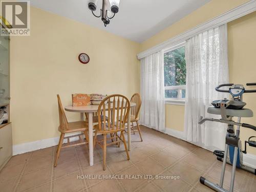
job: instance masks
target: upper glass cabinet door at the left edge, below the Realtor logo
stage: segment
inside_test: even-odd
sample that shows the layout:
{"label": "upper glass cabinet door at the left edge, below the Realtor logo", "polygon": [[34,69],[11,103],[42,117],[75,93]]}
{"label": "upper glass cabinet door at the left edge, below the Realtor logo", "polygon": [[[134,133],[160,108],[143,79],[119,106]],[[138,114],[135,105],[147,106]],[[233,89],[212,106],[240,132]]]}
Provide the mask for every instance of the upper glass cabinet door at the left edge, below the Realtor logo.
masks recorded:
{"label": "upper glass cabinet door at the left edge, below the Realtor logo", "polygon": [[9,47],[9,37],[0,36],[0,105],[10,102]]}

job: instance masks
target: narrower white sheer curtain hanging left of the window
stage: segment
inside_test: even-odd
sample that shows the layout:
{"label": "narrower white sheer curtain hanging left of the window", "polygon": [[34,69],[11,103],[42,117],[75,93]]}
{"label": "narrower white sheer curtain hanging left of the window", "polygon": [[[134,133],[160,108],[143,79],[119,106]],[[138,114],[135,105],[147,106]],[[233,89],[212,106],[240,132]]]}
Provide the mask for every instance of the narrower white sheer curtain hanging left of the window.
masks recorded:
{"label": "narrower white sheer curtain hanging left of the window", "polygon": [[141,59],[140,123],[156,130],[165,130],[163,52]]}

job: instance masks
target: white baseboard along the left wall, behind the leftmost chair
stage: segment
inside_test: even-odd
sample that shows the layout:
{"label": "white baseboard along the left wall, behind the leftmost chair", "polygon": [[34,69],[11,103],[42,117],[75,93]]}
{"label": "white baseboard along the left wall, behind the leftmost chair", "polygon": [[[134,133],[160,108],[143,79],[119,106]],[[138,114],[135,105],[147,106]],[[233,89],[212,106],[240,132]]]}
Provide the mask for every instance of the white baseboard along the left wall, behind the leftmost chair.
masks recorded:
{"label": "white baseboard along the left wall, behind the leftmost chair", "polygon": [[[66,134],[65,136],[72,136],[72,135],[77,135],[77,133]],[[71,142],[77,141],[78,139],[79,139],[78,137],[72,137],[70,138],[70,141]],[[59,137],[53,137],[49,139],[42,139],[42,140],[13,145],[12,155],[23,154],[27,152],[40,150],[41,148],[55,146],[58,144],[58,142],[59,142]],[[64,139],[63,143],[66,143],[66,142],[67,142],[67,139]]]}

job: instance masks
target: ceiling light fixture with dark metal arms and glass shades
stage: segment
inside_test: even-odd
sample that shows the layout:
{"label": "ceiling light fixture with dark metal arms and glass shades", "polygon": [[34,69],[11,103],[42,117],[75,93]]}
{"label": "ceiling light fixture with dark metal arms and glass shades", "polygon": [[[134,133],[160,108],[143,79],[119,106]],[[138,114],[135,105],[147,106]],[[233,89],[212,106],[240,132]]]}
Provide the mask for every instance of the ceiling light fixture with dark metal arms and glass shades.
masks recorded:
{"label": "ceiling light fixture with dark metal arms and glass shades", "polygon": [[[96,11],[97,9],[97,1],[98,0],[90,0],[88,3],[88,8],[92,11],[93,15],[96,17],[101,17],[102,22],[104,23],[104,26],[106,27],[106,25],[110,24],[110,19],[112,19],[115,14],[118,12],[118,5],[120,0],[102,0],[102,9],[100,9],[100,15],[97,16],[94,14],[94,11]],[[111,12],[114,13],[112,14],[110,17],[108,15],[108,13],[110,11],[108,11],[108,2],[110,3],[110,7],[111,7]]]}

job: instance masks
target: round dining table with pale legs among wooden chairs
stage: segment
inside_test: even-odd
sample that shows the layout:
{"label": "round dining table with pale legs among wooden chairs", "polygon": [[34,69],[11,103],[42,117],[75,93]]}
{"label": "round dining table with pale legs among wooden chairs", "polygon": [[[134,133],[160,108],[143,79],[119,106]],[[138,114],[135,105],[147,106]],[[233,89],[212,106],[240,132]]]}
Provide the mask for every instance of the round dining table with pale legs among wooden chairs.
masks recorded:
{"label": "round dining table with pale legs among wooden chairs", "polygon": [[[94,165],[93,160],[93,114],[98,111],[99,105],[87,105],[87,106],[73,106],[68,105],[65,106],[65,110],[68,112],[76,112],[80,113],[81,120],[83,119],[83,114],[88,113],[88,128],[89,128],[89,156],[90,156],[90,166]],[[113,105],[111,105],[113,107]],[[136,103],[130,102],[130,113],[131,108],[135,107]],[[108,105],[106,105],[106,109],[108,109]],[[128,137],[128,150],[131,151],[131,118],[130,113],[127,118],[127,137]]]}

